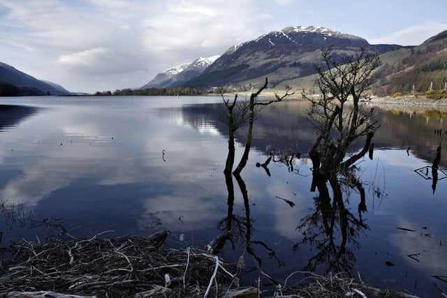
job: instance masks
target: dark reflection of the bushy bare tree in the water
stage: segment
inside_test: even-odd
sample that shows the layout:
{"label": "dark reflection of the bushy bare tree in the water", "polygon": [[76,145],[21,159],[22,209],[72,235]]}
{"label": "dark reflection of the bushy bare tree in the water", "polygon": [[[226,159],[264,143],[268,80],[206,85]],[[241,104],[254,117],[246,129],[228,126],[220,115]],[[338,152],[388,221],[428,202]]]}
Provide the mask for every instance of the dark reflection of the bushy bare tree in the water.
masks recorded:
{"label": "dark reflection of the bushy bare tree in the water", "polygon": [[[303,237],[293,246],[293,251],[298,251],[305,244],[318,251],[309,258],[304,271],[319,271],[318,267],[322,266],[325,267],[325,274],[331,271],[353,272],[356,263],[354,251],[360,248],[358,235],[369,227],[362,219],[362,213],[367,211],[365,189],[353,176],[349,178],[351,181],[342,183],[338,179],[330,180],[332,200],[328,185],[320,181],[318,196],[314,198],[314,210],[300,220],[297,230]],[[343,185],[356,188],[360,193],[358,216],[344,205]]]}

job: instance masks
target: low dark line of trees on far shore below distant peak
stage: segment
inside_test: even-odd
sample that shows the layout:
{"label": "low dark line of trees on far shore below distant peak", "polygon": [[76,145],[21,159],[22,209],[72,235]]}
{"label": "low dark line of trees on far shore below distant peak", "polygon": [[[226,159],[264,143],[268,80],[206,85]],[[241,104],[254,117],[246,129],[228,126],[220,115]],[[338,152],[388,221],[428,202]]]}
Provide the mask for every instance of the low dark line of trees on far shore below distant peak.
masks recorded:
{"label": "low dark line of trees on far shore below distant peak", "polygon": [[149,89],[117,89],[115,91],[96,91],[94,96],[199,96],[212,91],[196,88],[149,88]]}

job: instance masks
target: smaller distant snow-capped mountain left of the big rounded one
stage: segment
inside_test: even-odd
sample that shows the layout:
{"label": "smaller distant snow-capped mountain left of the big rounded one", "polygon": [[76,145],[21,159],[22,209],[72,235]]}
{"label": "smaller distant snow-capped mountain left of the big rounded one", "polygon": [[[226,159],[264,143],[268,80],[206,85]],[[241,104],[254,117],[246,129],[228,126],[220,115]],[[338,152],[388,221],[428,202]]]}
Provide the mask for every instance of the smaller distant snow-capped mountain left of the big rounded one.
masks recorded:
{"label": "smaller distant snow-capped mountain left of the big rounded one", "polygon": [[182,64],[159,73],[153,80],[145,84],[140,89],[182,87],[189,80],[197,77],[203,70],[210,66],[219,56],[199,57],[190,64]]}

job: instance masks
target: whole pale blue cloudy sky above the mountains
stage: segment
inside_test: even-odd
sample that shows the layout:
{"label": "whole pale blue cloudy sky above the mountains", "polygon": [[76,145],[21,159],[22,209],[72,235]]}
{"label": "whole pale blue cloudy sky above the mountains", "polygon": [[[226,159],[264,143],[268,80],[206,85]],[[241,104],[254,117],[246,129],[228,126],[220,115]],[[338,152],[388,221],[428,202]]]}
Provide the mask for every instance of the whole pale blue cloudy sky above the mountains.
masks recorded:
{"label": "whole pale blue cloudy sky above the mountains", "polygon": [[288,26],[418,45],[446,0],[1,0],[0,61],[69,91],[141,87],[166,68]]}

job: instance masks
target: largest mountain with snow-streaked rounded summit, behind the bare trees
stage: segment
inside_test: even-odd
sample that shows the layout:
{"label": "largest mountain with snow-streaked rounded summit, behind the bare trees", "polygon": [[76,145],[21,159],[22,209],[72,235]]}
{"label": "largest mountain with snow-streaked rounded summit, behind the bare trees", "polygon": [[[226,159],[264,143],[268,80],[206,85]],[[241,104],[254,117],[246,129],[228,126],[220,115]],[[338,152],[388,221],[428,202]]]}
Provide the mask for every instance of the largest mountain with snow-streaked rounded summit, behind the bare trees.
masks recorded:
{"label": "largest mountain with snow-streaked rounded summit, behind the bare trees", "polygon": [[316,73],[314,65],[322,60],[321,50],[329,47],[337,59],[351,56],[360,47],[377,54],[404,48],[370,45],[364,38],[323,27],[287,27],[230,47],[184,87],[249,88],[254,81],[262,83],[265,77],[274,87],[283,81]]}

